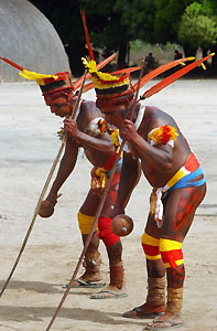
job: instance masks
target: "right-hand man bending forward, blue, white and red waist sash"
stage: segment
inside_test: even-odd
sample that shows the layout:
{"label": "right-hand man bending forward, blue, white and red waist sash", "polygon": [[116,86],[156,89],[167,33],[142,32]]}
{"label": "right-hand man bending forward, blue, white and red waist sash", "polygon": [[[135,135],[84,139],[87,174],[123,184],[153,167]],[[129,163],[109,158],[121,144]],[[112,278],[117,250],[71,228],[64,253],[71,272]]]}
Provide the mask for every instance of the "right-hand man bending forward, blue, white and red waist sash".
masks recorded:
{"label": "right-hand man bending forward, blue, white and red waist sash", "polygon": [[[89,67],[86,60],[84,64]],[[105,114],[108,122],[120,129],[121,138],[126,141],[112,216],[123,213],[122,206],[131,193],[139,161],[144,177],[153,188],[150,213],[142,235],[142,247],[147,256],[148,296],[142,306],[124,312],[123,317],[155,317],[145,327],[149,330],[181,325],[185,278],[182,243],[206,193],[203,171],[169,114],[156,107],[144,106],[143,102],[137,103],[133,114],[134,92],[128,75],[107,76],[105,84],[101,75],[91,72],[91,79],[96,87],[97,107]]]}

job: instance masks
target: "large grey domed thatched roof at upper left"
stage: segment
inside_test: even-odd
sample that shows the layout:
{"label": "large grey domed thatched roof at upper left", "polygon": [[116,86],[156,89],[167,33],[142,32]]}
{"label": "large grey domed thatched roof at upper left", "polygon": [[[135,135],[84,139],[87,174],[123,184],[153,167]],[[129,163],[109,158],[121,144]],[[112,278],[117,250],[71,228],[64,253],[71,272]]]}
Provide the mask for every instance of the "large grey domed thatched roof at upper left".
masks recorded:
{"label": "large grey domed thatched roof at upper left", "polygon": [[[52,23],[28,0],[0,0],[0,56],[43,74],[69,71],[63,43]],[[0,61],[0,82],[23,82]]]}

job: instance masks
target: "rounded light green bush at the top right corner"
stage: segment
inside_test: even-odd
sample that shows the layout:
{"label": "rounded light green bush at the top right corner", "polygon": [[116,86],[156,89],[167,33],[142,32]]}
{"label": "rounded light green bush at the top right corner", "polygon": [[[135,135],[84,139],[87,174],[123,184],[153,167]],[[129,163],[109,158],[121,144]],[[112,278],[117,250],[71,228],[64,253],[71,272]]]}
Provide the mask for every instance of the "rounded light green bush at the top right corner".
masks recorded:
{"label": "rounded light green bush at the top right corner", "polygon": [[209,47],[217,43],[217,15],[213,15],[208,1],[194,2],[186,8],[177,35],[182,44],[194,47]]}

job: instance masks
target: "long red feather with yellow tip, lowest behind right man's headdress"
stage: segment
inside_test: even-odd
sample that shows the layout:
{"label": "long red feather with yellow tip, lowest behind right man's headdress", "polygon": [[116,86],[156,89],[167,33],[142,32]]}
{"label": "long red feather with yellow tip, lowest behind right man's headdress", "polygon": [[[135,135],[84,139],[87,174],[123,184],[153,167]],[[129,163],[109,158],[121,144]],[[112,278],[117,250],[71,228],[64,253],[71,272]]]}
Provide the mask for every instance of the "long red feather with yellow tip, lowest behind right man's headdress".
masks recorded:
{"label": "long red feather with yellow tip, lowest behind right man's headdress", "polygon": [[186,73],[188,73],[189,71],[192,71],[193,68],[195,68],[196,66],[202,64],[204,61],[207,61],[211,56],[214,56],[214,54],[209,54],[208,56],[206,56],[202,60],[195,61],[194,63],[186,65],[185,67],[183,67],[178,72],[172,74],[171,76],[164,78],[162,82],[160,82],[160,83],[155,84],[154,86],[152,86],[150,89],[148,89],[143,94],[142,97],[149,98],[150,96],[156,94],[158,92],[165,88],[166,86],[169,86],[170,84],[175,82],[177,78],[182,77],[183,75],[185,75]]}

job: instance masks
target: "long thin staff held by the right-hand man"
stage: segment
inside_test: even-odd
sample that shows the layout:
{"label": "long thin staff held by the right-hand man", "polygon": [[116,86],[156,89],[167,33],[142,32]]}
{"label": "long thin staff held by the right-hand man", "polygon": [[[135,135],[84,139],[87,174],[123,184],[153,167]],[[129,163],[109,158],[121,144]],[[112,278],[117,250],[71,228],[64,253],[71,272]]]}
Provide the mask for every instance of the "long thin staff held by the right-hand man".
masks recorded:
{"label": "long thin staff held by the right-hand man", "polygon": [[[144,66],[144,60],[142,60],[142,64],[141,64],[140,77],[139,77],[139,83],[138,83],[138,86],[137,86],[137,93],[135,93],[135,96],[134,96],[133,106],[132,106],[132,113],[131,113],[130,119],[132,119],[132,118],[133,118],[133,115],[134,115],[134,110],[135,110],[135,106],[137,106],[137,99],[138,99],[139,89],[140,89],[140,82],[141,82],[142,73],[143,73],[143,66]],[[89,243],[90,243],[90,241],[91,241],[93,234],[94,234],[94,232],[95,232],[95,227],[96,227],[97,222],[98,222],[98,220],[99,220],[99,216],[100,216],[100,214],[101,214],[101,210],[102,210],[102,207],[104,207],[104,205],[105,205],[105,202],[106,202],[106,199],[107,199],[107,195],[108,195],[108,192],[109,192],[109,189],[110,189],[110,185],[111,185],[113,175],[115,175],[115,173],[116,173],[116,169],[117,169],[117,166],[118,166],[118,161],[119,161],[119,159],[120,159],[120,154],[121,154],[121,152],[122,152],[122,150],[123,150],[124,143],[126,143],[126,141],[122,140],[121,146],[120,146],[120,149],[119,149],[119,152],[118,152],[117,156],[116,156],[116,160],[115,160],[115,162],[113,162],[113,167],[112,167],[112,169],[111,169],[111,172],[110,172],[108,182],[107,182],[106,188],[105,188],[105,190],[104,190],[104,193],[102,193],[100,203],[99,203],[99,205],[98,205],[98,209],[97,209],[97,212],[96,212],[96,215],[95,215],[95,220],[94,220],[94,222],[93,222],[93,224],[91,224],[89,234],[88,234],[88,236],[87,236],[87,239],[86,239],[86,243],[85,243],[85,245],[84,245],[83,252],[82,252],[82,254],[80,254],[80,257],[79,257],[79,259],[78,259],[77,266],[76,266],[76,268],[75,268],[75,271],[74,271],[74,274],[73,274],[73,276],[72,276],[72,278],[70,278],[70,281],[69,281],[69,284],[68,284],[68,286],[67,286],[67,288],[66,288],[66,290],[65,290],[65,292],[64,292],[64,295],[63,295],[63,298],[62,298],[61,302],[58,303],[58,307],[56,308],[55,313],[54,313],[54,316],[53,316],[53,318],[52,318],[51,322],[48,323],[48,325],[47,325],[47,328],[46,328],[45,331],[48,331],[48,330],[51,329],[51,327],[53,325],[53,323],[54,323],[54,321],[55,321],[55,319],[56,319],[56,317],[57,317],[57,314],[58,314],[61,308],[63,307],[64,301],[66,300],[66,298],[67,298],[67,296],[68,296],[68,293],[69,293],[69,290],[70,290],[70,288],[72,288],[72,286],[73,286],[73,282],[74,282],[74,280],[75,280],[75,278],[76,278],[76,276],[77,276],[77,273],[78,273],[78,270],[79,270],[79,267],[80,267],[80,265],[82,265],[82,263],[83,263],[83,259],[84,259],[84,257],[85,257],[86,250],[87,250],[87,248],[88,248],[88,246],[89,246]]]}

